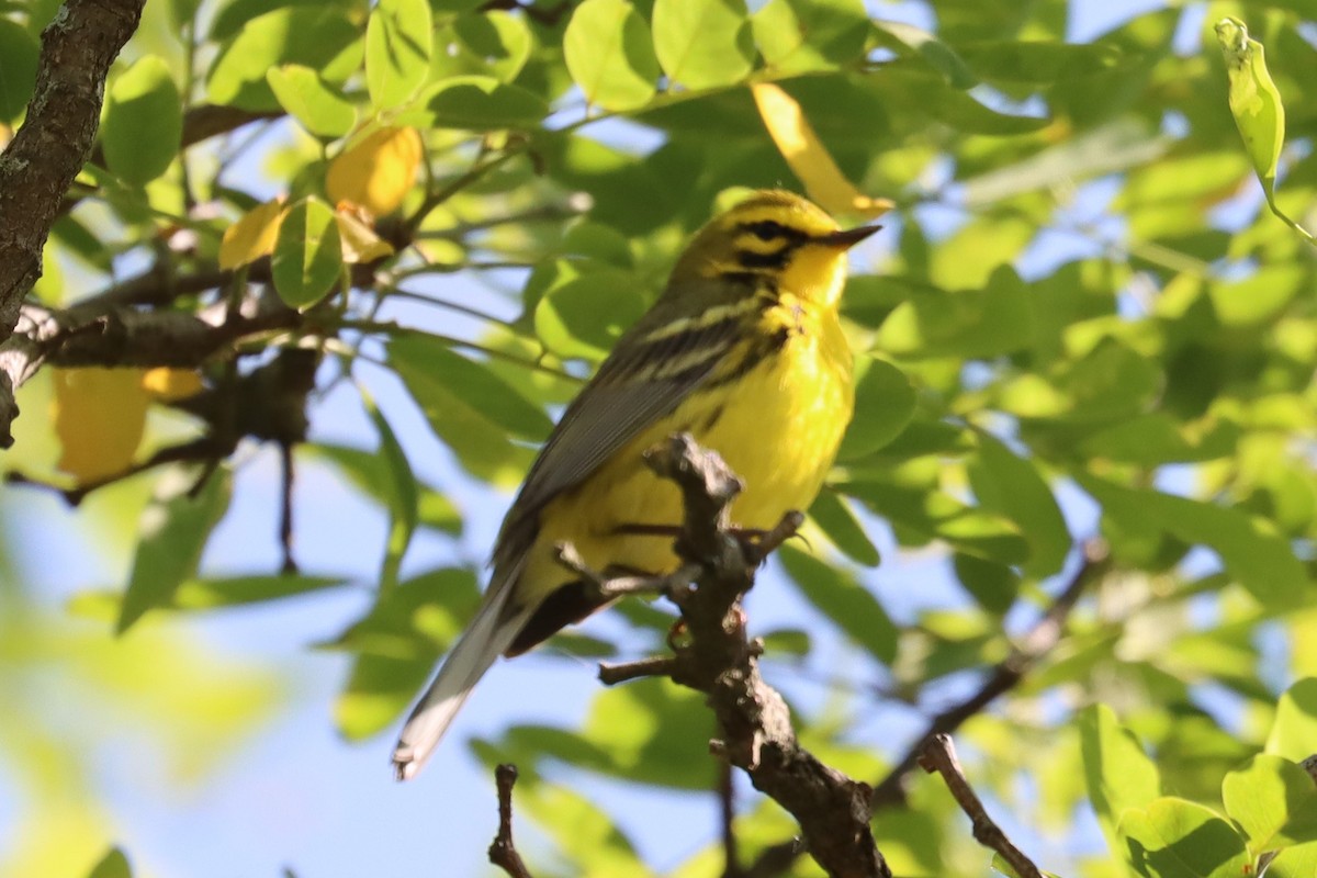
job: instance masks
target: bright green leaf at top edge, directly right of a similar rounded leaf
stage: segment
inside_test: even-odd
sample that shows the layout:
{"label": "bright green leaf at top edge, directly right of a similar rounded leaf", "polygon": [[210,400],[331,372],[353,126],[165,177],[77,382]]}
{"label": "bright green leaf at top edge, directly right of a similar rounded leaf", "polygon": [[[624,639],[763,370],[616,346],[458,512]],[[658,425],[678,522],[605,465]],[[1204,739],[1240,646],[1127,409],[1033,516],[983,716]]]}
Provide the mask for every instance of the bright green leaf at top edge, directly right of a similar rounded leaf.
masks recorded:
{"label": "bright green leaf at top edge, directly right of a similar rounded leaf", "polygon": [[686,88],[739,83],[755,63],[743,0],[655,0],[652,26],[658,63]]}

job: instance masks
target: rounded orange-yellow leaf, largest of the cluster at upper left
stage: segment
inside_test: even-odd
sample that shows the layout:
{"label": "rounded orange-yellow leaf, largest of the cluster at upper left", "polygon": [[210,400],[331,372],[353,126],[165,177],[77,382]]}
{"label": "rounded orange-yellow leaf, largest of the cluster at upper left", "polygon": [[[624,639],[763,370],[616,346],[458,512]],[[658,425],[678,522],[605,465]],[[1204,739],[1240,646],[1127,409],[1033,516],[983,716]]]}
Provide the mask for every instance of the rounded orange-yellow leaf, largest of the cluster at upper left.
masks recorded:
{"label": "rounded orange-yellow leaf, largest of the cluster at upper left", "polygon": [[381,128],[329,163],[329,200],[350,201],[373,216],[392,213],[416,180],[424,147],[415,128]]}

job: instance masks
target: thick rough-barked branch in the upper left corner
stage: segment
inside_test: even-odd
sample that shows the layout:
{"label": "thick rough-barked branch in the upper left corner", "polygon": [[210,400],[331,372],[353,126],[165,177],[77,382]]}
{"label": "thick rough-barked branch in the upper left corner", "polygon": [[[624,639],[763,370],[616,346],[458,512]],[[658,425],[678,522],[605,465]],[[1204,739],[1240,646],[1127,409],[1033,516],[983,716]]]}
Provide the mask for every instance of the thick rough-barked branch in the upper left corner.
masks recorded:
{"label": "thick rough-barked branch in the upper left corner", "polygon": [[[146,0],[67,0],[42,32],[28,116],[0,153],[0,342],[41,276],[41,253],[65,194],[91,151],[105,75]],[[0,448],[18,409],[0,373]]]}

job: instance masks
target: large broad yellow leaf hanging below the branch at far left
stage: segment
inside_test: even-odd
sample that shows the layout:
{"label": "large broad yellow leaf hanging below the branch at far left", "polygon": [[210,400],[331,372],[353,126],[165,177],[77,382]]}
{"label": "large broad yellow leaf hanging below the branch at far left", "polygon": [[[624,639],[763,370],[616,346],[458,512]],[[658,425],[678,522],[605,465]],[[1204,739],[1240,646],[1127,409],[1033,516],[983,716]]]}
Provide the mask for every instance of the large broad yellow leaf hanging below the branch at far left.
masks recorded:
{"label": "large broad yellow leaf hanging below the branch at far left", "polygon": [[51,419],[62,453],[55,463],[79,482],[133,462],[146,425],[141,369],[55,369]]}

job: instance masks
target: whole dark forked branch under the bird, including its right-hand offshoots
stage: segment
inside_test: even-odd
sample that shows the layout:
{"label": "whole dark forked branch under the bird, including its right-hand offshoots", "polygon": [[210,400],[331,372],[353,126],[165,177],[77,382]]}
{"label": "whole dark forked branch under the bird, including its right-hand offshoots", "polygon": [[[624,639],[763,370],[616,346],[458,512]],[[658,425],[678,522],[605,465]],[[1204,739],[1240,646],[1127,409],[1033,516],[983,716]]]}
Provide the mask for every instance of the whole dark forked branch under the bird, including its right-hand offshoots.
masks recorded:
{"label": "whole dark forked branch under the bird, including its right-hand offshoots", "polygon": [[973,820],[979,841],[997,850],[1022,878],[1040,878],[1038,867],[988,817],[960,770],[947,732],[1017,686],[1055,648],[1084,590],[1108,567],[1105,545],[1093,541],[1084,546],[1079,571],[980,690],[935,716],[906,757],[877,788],[871,788],[799,746],[785,702],[760,677],[763,646],[745,633],[740,600],[753,584],[755,569],[790,538],[802,516],[789,513],[770,532],[751,541],[730,527],[728,509],[741,484],[716,454],[699,449],[687,436],[674,436],[645,457],[660,477],[676,482],[682,492],[685,521],[676,542],[682,567],[666,577],[610,579],[590,570],[570,545],[561,545],[558,555],[565,566],[594,583],[603,598],[648,591],[677,604],[687,636],[681,644],[670,644],[673,654],[603,665],[599,679],[615,684],[640,677],[668,677],[705,692],[722,733],[720,740],[710,742],[711,752],[744,770],[756,788],[799,821],[801,839],[768,848],[747,867],[732,861],[735,845],[724,839],[730,852],[724,874],[781,874],[807,852],[831,875],[890,877],[869,821],[876,810],[903,799],[910,771],[923,766],[942,774]]}

